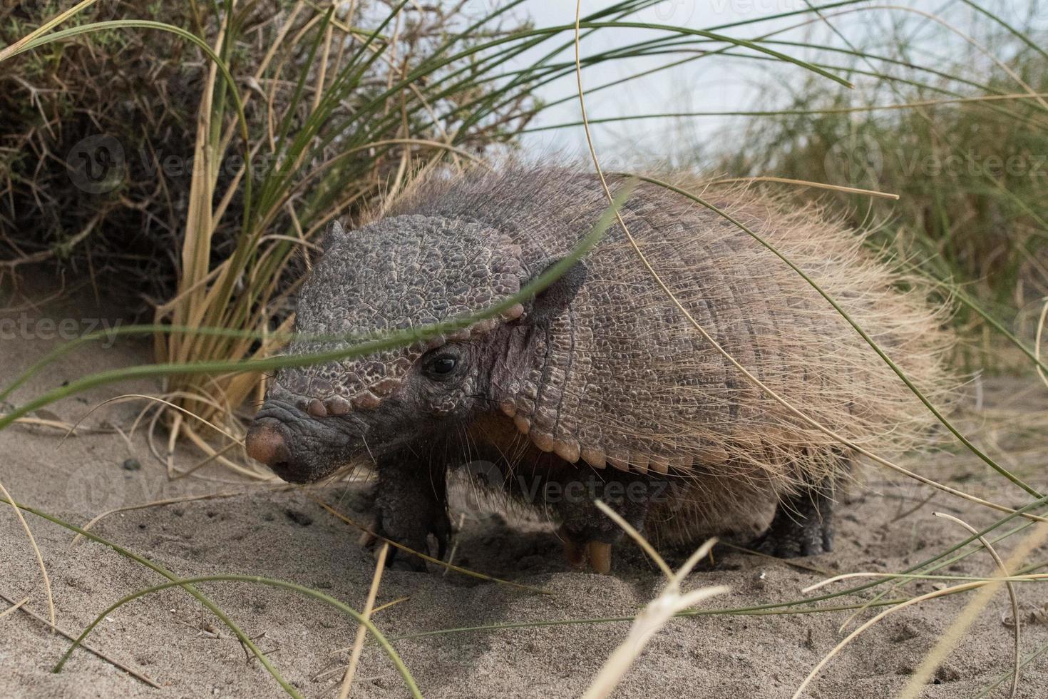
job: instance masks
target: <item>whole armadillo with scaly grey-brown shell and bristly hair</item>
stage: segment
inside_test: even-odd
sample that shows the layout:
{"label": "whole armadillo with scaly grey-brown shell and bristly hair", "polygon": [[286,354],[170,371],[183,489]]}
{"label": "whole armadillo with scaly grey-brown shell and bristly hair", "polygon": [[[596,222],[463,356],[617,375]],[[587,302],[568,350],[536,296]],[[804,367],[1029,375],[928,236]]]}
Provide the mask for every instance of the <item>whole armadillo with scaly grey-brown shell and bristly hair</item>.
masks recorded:
{"label": "whole armadillo with scaly grey-brown shell and bristly hair", "polygon": [[[925,284],[817,206],[751,187],[702,191],[804,270],[931,400],[951,399],[946,309]],[[288,351],[505,301],[569,255],[608,205],[599,180],[572,168],[434,177],[379,220],[331,226],[298,301],[302,340]],[[432,534],[443,553],[449,472],[478,460],[560,521],[570,563],[598,572],[610,569],[623,533],[597,499],[660,543],[686,544],[765,508],[759,550],[829,551],[836,486],[851,478],[854,447],[929,443],[934,418],[808,281],[720,213],[654,183],[619,213],[636,248],[614,225],[552,285],[497,318],[427,343],[280,370],[247,453],[292,482],[371,462],[375,533],[415,551],[428,551]],[[637,248],[763,388],[697,332]],[[577,484],[581,497],[564,497]],[[409,567],[424,566],[408,558]]]}

